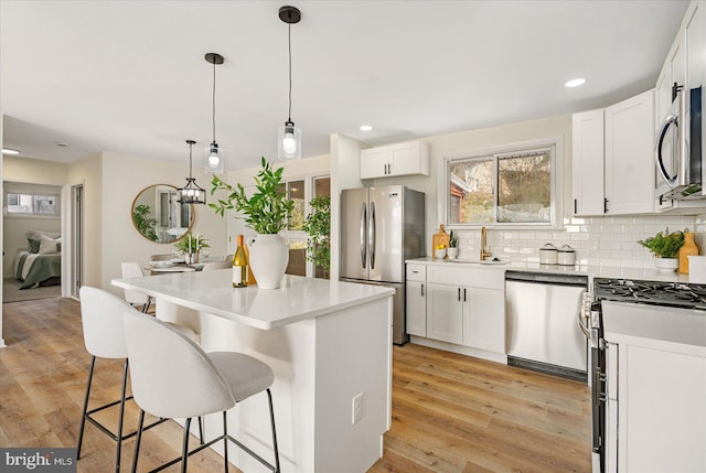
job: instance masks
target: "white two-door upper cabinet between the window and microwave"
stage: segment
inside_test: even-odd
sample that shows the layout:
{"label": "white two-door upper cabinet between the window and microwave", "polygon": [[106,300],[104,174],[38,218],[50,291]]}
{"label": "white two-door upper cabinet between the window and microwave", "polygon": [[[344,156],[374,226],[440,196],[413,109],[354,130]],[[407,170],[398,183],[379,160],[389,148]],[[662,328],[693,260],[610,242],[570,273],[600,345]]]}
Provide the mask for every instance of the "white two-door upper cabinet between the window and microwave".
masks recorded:
{"label": "white two-door upper cabinet between the window and microwave", "polygon": [[654,92],[573,116],[576,215],[654,212]]}

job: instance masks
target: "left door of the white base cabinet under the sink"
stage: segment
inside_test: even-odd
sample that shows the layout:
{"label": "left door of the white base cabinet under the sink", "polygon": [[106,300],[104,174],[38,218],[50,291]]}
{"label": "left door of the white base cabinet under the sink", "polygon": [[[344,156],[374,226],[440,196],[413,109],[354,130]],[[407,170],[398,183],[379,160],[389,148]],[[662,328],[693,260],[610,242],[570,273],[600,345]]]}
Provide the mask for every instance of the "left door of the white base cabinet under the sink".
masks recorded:
{"label": "left door of the white base cabinet under the sink", "polygon": [[427,337],[461,344],[463,341],[461,288],[427,284]]}

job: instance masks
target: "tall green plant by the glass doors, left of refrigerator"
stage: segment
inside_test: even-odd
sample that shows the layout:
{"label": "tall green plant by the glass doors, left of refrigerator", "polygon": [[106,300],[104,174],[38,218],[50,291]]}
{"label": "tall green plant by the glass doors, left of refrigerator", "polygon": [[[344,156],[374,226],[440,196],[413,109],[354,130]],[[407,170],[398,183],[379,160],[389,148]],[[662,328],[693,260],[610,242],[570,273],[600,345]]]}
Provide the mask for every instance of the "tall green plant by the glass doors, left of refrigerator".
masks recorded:
{"label": "tall green plant by the glass doors, left of refrigerator", "polygon": [[331,267],[331,197],[318,195],[309,201],[311,213],[304,219],[302,229],[309,234],[307,259],[329,279]]}

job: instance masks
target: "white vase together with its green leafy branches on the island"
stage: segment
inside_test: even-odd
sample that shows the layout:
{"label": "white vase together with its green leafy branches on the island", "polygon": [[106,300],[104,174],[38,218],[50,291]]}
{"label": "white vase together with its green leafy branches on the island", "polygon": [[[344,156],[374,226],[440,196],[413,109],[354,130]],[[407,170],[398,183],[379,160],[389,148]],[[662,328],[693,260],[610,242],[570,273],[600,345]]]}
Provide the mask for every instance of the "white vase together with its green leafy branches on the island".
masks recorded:
{"label": "white vase together with its green leafy branches on the island", "polygon": [[252,196],[246,195],[243,184],[232,186],[217,175],[213,176],[211,187],[211,195],[217,191],[227,193],[225,198],[208,204],[216,214],[224,216],[225,211],[235,209],[246,226],[258,234],[255,241],[248,241],[248,247],[250,269],[260,289],[278,289],[289,262],[289,248],[278,233],[287,228],[295,201],[287,197],[282,172],[284,168],[275,169],[263,158],[261,169],[253,178],[256,191]]}

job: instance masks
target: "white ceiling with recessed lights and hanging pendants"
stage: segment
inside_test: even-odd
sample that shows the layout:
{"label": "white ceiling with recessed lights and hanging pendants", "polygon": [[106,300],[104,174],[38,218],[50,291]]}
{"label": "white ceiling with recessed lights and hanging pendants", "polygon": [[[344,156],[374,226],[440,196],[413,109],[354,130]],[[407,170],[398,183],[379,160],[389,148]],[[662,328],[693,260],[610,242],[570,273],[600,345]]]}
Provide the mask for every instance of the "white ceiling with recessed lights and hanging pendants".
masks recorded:
{"label": "white ceiling with recessed lights and hanging pendants", "polygon": [[[688,1],[0,1],[4,147],[72,162],[100,151],[228,170],[607,106],[654,86]],[[564,82],[585,77],[586,85]],[[373,126],[363,132],[361,125]],[[57,143],[67,143],[61,147]],[[196,152],[197,151],[197,152]]]}

